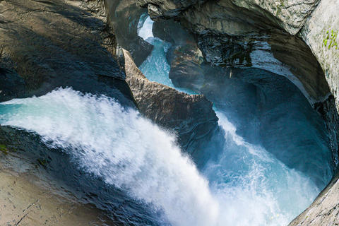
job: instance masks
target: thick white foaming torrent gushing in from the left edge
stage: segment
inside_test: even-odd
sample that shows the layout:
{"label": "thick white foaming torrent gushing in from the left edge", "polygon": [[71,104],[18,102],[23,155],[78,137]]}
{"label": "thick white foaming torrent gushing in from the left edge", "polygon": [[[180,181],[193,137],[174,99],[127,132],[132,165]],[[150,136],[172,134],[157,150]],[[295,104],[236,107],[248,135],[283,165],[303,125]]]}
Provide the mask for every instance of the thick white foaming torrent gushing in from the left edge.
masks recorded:
{"label": "thick white foaming torrent gushing in from the left edge", "polygon": [[111,98],[71,88],[0,104],[1,125],[35,132],[88,173],[162,209],[172,225],[216,225],[218,202],[174,137]]}

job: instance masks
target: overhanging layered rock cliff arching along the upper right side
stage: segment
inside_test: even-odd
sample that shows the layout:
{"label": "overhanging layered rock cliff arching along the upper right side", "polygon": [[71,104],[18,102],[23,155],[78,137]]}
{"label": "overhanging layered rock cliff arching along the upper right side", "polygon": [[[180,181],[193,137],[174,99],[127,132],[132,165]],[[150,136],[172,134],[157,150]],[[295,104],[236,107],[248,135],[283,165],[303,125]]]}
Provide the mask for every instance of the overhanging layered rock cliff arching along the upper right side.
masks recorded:
{"label": "overhanging layered rock cliff arching along the upper right side", "polygon": [[[137,1],[138,6],[148,8],[153,20],[179,21],[194,35],[206,61],[231,69],[231,78],[263,85],[263,93],[274,91],[281,95],[288,89],[279,88],[275,76],[292,82],[326,121],[334,167],[338,167],[338,3],[330,0]],[[275,101],[266,102],[268,93],[263,95],[260,106],[272,112]],[[267,116],[265,113],[263,118]],[[336,182],[333,179],[291,225],[333,225],[338,203],[332,199],[336,195]]]}

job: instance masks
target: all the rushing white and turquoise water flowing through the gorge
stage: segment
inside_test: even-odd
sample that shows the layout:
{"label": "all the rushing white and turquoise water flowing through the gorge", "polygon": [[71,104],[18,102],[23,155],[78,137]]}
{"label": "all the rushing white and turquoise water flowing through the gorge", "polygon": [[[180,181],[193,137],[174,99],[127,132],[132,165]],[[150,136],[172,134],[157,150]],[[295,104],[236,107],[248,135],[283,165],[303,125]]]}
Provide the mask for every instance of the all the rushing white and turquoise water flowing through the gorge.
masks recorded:
{"label": "all the rushing white and turquoise water flowing through the gorge", "polygon": [[[152,42],[162,50],[155,48],[141,67],[146,76],[162,82],[168,79],[168,64],[155,60],[165,59],[166,44],[154,37]],[[68,153],[71,164],[151,212],[160,211],[164,220],[155,224],[287,225],[319,189],[309,177],[244,141],[227,117],[216,112],[225,146],[202,172],[174,144],[173,135],[105,96],[59,88],[42,97],[3,102],[0,123],[39,134],[42,142]]]}

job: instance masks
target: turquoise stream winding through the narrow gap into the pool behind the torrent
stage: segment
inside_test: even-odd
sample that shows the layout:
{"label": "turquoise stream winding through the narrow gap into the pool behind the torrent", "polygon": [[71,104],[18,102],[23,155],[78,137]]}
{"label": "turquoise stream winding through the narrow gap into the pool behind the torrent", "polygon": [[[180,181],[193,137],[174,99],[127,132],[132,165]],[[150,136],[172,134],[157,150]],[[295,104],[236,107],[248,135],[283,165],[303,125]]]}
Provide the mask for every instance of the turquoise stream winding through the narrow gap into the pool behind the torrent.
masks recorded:
{"label": "turquoise stream winding through the narrow gap into the pool behind the torrent", "polygon": [[[154,44],[150,21],[146,18],[139,35]],[[155,50],[140,69],[150,81],[175,88],[168,78],[167,61],[159,60],[166,59],[165,44],[157,38]],[[161,46],[162,51],[156,49]],[[161,67],[164,70],[157,70]],[[188,89],[176,89],[196,94]],[[319,188],[309,177],[288,168],[264,148],[244,141],[225,114],[216,107],[215,112],[225,131],[225,148],[218,160],[208,162],[203,174],[220,203],[222,217],[218,225],[287,225],[309,206],[319,194]]]}

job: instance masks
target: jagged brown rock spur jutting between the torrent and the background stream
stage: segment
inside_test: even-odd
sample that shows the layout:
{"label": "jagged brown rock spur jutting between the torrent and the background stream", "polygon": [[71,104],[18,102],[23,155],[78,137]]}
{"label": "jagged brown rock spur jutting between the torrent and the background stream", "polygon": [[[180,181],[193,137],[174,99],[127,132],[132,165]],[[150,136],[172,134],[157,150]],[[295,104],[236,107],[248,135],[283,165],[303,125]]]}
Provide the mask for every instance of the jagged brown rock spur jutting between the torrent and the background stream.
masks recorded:
{"label": "jagged brown rock spur jutting between the torrent and the background stream", "polygon": [[[212,102],[203,95],[179,93],[167,85],[148,81],[126,50],[124,57],[126,81],[141,114],[163,128],[176,132],[182,148],[194,157],[198,166],[203,165],[203,161],[208,160],[210,156],[201,155],[215,153],[201,153],[199,150],[204,150],[202,146],[208,145],[213,136],[220,134],[218,117],[213,111]],[[222,138],[216,140],[222,141]],[[214,148],[210,144],[208,146]]]}

